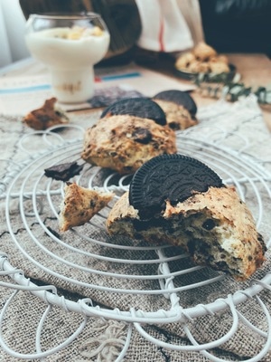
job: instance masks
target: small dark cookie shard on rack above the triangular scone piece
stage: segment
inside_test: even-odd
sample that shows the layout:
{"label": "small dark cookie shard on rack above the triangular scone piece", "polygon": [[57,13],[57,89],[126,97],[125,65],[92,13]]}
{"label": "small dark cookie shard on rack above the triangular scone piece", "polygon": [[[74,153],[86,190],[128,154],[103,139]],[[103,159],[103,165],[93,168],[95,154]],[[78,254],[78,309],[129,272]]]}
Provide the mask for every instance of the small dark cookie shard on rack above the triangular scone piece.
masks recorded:
{"label": "small dark cookie shard on rack above the triangular scone piece", "polygon": [[68,162],[65,164],[54,165],[44,169],[45,176],[54,180],[68,181],[71,177],[79,175],[84,165],[78,165],[77,162]]}

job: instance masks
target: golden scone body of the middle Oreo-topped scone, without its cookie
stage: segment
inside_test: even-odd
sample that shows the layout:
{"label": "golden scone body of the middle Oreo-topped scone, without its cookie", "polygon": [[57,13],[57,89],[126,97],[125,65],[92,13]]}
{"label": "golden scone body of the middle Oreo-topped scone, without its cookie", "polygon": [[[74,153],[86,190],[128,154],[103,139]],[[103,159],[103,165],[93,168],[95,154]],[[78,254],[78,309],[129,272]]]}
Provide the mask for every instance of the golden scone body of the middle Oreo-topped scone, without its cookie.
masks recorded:
{"label": "golden scone body of the middle Oreo-topped scone, without its cookie", "polygon": [[177,152],[176,136],[153,119],[113,115],[87,129],[81,157],[90,164],[132,174],[147,160]]}

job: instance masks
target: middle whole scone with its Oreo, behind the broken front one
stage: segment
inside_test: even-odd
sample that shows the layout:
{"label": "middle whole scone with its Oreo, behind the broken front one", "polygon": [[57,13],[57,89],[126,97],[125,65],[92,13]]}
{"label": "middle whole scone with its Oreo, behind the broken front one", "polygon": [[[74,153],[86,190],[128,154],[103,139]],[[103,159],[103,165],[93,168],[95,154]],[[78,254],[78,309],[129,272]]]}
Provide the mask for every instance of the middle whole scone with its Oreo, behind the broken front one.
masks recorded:
{"label": "middle whole scone with its Oreo, behind the broken front one", "polygon": [[81,157],[126,175],[155,156],[176,152],[164,111],[153,100],[135,98],[104,110],[97,124],[86,130]]}

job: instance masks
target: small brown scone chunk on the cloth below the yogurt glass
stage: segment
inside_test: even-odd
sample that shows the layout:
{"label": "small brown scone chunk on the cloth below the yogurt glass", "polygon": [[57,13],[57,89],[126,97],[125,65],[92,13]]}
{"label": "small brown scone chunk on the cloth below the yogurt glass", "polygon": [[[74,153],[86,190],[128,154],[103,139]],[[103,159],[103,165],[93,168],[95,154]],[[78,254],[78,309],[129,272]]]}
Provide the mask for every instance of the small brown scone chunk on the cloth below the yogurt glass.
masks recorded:
{"label": "small brown scone chunk on the cloth below the yogurt glass", "polygon": [[23,123],[36,130],[49,129],[52,126],[69,123],[66,112],[57,105],[57,99],[45,100],[41,108],[32,110],[24,118]]}

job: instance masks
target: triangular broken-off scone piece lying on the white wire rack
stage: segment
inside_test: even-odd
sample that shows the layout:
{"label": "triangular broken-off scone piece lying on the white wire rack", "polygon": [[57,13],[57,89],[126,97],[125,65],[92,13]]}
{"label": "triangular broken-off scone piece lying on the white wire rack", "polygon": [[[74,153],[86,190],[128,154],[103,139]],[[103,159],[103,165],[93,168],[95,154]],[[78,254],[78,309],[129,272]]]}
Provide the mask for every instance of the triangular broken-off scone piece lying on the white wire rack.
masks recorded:
{"label": "triangular broken-off scone piece lying on the white wire rack", "polygon": [[114,193],[88,189],[76,183],[67,183],[59,214],[60,231],[83,225],[98,214],[113,199]]}

